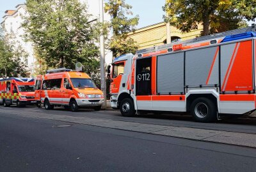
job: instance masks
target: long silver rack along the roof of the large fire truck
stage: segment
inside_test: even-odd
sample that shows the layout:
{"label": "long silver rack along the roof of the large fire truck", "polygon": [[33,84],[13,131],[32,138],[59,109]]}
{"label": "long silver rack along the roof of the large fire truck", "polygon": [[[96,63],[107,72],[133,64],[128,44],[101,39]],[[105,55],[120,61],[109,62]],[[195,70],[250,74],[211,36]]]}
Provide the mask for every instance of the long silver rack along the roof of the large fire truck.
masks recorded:
{"label": "long silver rack along the roof of the large fire truck", "polygon": [[145,48],[143,50],[138,50],[136,51],[136,54],[146,54],[149,52],[157,52],[159,50],[166,50],[168,48],[172,48],[173,45],[179,45],[179,44],[189,44],[189,43],[196,43],[196,42],[200,42],[200,41],[205,41],[205,40],[211,40],[211,39],[216,39],[216,38],[221,38],[224,36],[230,36],[230,35],[234,35],[234,34],[241,34],[241,33],[245,33],[245,32],[255,32],[256,30],[256,25],[252,24],[252,26],[250,27],[244,27],[241,29],[235,29],[232,31],[226,31],[226,32],[220,32],[220,33],[216,33],[216,34],[210,34],[207,36],[200,36],[198,38],[193,38],[193,39],[188,39],[186,41],[177,41],[174,43],[170,43],[170,44],[165,44],[165,45],[159,45],[159,46],[154,46],[151,48]]}

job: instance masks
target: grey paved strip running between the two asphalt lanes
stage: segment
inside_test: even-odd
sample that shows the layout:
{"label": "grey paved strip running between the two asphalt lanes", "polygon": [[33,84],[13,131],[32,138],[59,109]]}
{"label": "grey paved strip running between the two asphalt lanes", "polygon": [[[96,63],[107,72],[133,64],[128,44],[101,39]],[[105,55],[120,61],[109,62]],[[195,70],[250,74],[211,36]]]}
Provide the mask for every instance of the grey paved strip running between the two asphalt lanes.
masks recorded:
{"label": "grey paved strip running between the two asphalt lanes", "polygon": [[208,129],[194,129],[189,127],[174,127],[167,125],[142,124],[138,122],[115,121],[104,118],[51,115],[43,111],[40,111],[38,113],[20,111],[19,114],[16,114],[15,111],[6,111],[6,113],[20,115],[22,117],[44,118],[47,120],[58,120],[63,122],[72,122],[76,124],[92,125],[111,129],[122,129],[125,131],[134,131],[140,133],[172,136],[176,138],[185,138],[189,140],[209,141],[215,143],[224,143],[229,145],[256,148],[256,134],[214,131]]}

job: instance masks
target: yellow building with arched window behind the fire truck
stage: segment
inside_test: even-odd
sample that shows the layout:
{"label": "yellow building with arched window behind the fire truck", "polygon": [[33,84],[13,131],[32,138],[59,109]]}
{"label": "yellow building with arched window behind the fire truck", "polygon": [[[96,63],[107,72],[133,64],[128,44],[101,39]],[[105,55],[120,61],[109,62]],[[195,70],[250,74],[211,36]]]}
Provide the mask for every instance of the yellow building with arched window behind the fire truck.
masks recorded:
{"label": "yellow building with arched window behind the fire truck", "polygon": [[[158,24],[148,25],[147,27],[137,29],[136,31],[129,33],[129,37],[134,39],[134,41],[139,44],[139,50],[141,50],[144,48],[164,45],[167,38],[166,29],[166,23],[161,22]],[[171,26],[171,40],[173,42],[196,38],[196,36],[200,36],[202,30],[202,25],[198,25],[198,29],[192,30],[191,32],[181,32],[179,29]]]}

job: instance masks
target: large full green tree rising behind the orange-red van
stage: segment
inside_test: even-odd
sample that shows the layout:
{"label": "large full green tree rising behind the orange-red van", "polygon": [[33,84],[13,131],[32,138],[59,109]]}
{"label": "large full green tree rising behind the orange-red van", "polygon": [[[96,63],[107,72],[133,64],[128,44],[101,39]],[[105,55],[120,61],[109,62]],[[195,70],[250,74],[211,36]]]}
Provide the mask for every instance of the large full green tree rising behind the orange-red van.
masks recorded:
{"label": "large full green tree rising behind the orange-red van", "polygon": [[[99,35],[86,5],[79,0],[27,0],[28,15],[22,24],[38,59],[48,68],[74,69],[76,62],[99,69]],[[95,65],[96,64],[96,65]]]}

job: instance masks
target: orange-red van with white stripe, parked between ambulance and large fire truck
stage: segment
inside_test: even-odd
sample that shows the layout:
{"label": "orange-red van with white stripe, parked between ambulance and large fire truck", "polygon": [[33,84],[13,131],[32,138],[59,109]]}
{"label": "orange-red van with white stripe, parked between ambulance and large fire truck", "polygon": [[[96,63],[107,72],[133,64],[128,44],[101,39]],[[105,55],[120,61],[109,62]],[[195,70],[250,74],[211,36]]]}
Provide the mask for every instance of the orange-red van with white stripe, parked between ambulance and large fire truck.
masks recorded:
{"label": "orange-red van with white stripe, parked between ambulance and large fire truck", "polygon": [[36,104],[44,105],[46,110],[54,106],[78,111],[80,107],[92,107],[100,110],[104,102],[103,93],[90,76],[79,71],[60,68],[47,71],[36,77]]}

